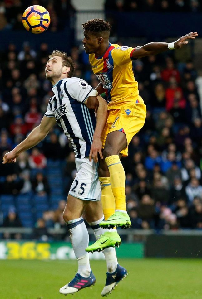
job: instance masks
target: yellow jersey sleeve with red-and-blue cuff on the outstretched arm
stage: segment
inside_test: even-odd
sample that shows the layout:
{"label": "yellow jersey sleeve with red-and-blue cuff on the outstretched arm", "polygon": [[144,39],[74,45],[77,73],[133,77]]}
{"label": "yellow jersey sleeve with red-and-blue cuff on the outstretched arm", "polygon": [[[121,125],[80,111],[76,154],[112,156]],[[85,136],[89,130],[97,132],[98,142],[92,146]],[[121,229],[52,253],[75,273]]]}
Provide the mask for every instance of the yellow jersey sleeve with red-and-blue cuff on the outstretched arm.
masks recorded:
{"label": "yellow jersey sleeve with red-and-blue cuff on the outstretched arm", "polygon": [[132,53],[135,48],[122,46],[121,48],[115,48],[111,51],[112,58],[117,65],[127,65],[132,58]]}

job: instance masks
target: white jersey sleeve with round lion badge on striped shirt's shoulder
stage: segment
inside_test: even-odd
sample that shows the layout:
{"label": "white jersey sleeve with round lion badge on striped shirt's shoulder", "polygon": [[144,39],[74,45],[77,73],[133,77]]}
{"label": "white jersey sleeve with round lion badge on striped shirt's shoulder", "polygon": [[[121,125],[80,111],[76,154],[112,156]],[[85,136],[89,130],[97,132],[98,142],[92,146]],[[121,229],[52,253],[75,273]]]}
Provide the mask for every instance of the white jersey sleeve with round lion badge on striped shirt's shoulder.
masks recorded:
{"label": "white jersey sleeve with round lion badge on striped shirt's shoulder", "polygon": [[73,99],[76,99],[82,104],[86,101],[91,90],[93,90],[85,80],[80,78],[72,78],[72,80],[69,80],[68,83],[66,82],[64,86],[67,95],[69,94]]}

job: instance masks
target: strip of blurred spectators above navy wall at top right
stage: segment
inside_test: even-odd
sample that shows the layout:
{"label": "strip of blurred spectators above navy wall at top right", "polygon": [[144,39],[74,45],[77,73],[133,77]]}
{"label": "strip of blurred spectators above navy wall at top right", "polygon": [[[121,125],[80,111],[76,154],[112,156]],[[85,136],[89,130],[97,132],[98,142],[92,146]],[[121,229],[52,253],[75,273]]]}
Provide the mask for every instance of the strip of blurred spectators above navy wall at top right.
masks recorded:
{"label": "strip of blurred spectators above navy wall at top right", "polygon": [[199,0],[106,0],[105,9],[117,12],[201,12]]}

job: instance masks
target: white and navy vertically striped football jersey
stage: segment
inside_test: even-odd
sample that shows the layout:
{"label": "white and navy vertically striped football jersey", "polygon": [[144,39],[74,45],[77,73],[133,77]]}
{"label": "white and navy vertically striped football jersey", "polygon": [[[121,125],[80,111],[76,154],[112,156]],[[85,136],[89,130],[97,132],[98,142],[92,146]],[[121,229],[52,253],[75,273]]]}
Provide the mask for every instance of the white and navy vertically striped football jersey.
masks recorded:
{"label": "white and navy vertically striped football jersey", "polygon": [[93,88],[79,78],[66,78],[52,88],[54,96],[49,100],[48,117],[55,117],[71,142],[75,157],[85,158],[90,154],[96,116],[83,103]]}

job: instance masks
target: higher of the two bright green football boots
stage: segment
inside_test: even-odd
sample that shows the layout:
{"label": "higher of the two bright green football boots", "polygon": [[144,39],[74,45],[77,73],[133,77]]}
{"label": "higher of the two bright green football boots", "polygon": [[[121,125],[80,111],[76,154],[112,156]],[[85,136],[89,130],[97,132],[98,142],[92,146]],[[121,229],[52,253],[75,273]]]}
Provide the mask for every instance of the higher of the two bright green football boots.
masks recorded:
{"label": "higher of the two bright green football boots", "polygon": [[100,226],[104,229],[110,229],[115,226],[120,226],[122,229],[128,229],[131,227],[131,219],[127,213],[115,212],[107,220],[102,221]]}

